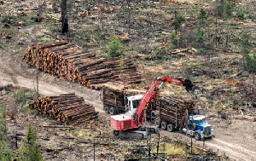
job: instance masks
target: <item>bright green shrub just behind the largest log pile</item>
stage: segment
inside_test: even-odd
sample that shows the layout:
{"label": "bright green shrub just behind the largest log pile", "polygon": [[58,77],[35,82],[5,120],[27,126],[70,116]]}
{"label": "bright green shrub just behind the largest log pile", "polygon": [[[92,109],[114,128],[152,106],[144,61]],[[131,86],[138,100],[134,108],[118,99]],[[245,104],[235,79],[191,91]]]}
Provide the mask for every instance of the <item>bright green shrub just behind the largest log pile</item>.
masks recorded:
{"label": "bright green shrub just behind the largest log pile", "polygon": [[111,57],[117,57],[117,56],[123,55],[122,43],[120,42],[119,38],[116,36],[112,36],[109,39],[108,55],[110,55]]}

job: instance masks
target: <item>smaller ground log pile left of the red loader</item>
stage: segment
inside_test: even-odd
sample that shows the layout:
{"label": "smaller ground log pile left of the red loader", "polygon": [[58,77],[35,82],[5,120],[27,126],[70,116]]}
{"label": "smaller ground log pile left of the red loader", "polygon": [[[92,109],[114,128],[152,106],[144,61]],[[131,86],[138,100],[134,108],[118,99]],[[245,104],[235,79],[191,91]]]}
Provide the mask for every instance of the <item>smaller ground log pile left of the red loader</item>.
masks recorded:
{"label": "smaller ground log pile left of the red loader", "polygon": [[83,123],[96,118],[98,114],[93,106],[75,94],[44,96],[32,101],[30,107],[40,114],[49,115],[69,125]]}

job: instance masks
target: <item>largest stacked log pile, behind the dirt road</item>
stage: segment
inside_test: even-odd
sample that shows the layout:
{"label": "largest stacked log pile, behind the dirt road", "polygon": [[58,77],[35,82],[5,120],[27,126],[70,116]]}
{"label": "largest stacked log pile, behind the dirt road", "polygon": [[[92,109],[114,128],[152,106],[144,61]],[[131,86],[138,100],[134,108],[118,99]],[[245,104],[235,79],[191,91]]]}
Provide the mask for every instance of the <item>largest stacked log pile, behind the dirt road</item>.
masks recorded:
{"label": "largest stacked log pile, behind the dirt road", "polygon": [[27,50],[24,59],[31,66],[90,89],[101,89],[107,82],[143,81],[131,59],[104,58],[67,42],[32,43]]}

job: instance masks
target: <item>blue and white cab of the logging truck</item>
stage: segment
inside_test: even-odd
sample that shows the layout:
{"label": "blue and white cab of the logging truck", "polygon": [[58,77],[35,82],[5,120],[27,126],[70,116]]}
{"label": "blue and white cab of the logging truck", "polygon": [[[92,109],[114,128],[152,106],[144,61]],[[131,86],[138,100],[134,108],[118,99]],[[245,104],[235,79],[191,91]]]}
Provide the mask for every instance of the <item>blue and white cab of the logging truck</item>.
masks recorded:
{"label": "blue and white cab of the logging truck", "polygon": [[187,128],[183,128],[183,132],[188,135],[194,135],[195,140],[210,138],[213,136],[211,124],[208,124],[206,117],[203,115],[191,115],[188,117]]}

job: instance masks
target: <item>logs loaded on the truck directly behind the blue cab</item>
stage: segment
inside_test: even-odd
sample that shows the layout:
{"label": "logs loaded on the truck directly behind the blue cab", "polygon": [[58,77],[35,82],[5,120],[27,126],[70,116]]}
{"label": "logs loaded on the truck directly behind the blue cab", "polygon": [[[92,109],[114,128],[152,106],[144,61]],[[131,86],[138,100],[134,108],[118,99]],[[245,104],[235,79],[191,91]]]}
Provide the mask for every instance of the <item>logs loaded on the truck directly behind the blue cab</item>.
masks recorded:
{"label": "logs loaded on the truck directly behind the blue cab", "polygon": [[[186,112],[194,112],[195,102],[180,100],[171,96],[160,97],[160,118],[169,121],[171,123],[180,123],[186,116]],[[177,114],[176,114],[177,113]]]}

